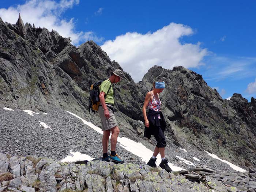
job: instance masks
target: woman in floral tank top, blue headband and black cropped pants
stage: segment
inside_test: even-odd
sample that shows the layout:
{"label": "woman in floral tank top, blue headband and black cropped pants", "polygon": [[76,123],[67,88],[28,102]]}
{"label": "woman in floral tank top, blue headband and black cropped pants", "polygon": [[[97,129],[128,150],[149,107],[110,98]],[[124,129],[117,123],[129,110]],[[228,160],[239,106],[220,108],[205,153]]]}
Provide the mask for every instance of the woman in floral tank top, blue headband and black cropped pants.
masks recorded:
{"label": "woman in floral tank top, blue headband and black cropped pants", "polygon": [[[165,82],[154,82],[153,87],[154,89],[147,93],[143,105],[143,116],[146,126],[144,136],[150,139],[151,135],[154,135],[155,140],[157,140],[157,146],[147,165],[157,167],[155,162],[157,161],[158,153],[160,153],[162,161],[159,166],[167,172],[171,172],[172,169],[168,165],[168,159],[165,158],[166,141],[164,131],[166,122],[161,112],[161,101],[159,99],[159,93],[162,93],[165,88]],[[149,109],[148,115],[146,114],[147,107]]]}

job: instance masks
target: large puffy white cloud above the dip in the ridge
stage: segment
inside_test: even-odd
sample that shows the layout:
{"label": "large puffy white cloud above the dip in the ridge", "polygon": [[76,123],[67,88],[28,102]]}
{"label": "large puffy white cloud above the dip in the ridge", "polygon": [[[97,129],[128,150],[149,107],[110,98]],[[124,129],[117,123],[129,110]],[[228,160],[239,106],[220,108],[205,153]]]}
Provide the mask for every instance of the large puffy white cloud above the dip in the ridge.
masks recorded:
{"label": "large puffy white cloud above the dip in the ridge", "polygon": [[200,48],[200,43],[180,42],[182,36],[192,34],[190,27],[170,23],[153,33],[133,32],[117,36],[113,41],[106,41],[102,49],[138,82],[154,65],[161,65],[166,69],[178,65],[187,68],[202,65],[207,49]]}

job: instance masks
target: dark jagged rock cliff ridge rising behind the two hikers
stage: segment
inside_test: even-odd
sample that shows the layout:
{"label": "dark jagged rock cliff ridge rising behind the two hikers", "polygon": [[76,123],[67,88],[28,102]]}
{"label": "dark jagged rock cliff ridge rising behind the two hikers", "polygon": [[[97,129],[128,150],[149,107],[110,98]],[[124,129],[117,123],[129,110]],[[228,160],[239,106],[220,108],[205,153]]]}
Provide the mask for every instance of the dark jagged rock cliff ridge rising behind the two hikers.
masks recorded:
{"label": "dark jagged rock cliff ridge rising behind the two hikers", "polygon": [[[89,114],[89,87],[108,78],[120,68],[116,61],[93,41],[78,48],[56,31],[35,28],[19,19],[15,25],[0,18],[0,105],[9,108],[47,112],[56,105],[99,125],[99,118]],[[131,76],[115,84],[115,108],[121,134],[136,140],[142,137],[142,105],[147,91],[156,80],[166,82],[161,94],[167,117],[169,144],[181,146],[180,139],[199,150],[242,167],[256,165],[256,101],[249,103],[240,94],[223,100],[202,76],[184,67],[173,70],[154,66],[142,82]],[[178,125],[172,129],[172,125]]]}

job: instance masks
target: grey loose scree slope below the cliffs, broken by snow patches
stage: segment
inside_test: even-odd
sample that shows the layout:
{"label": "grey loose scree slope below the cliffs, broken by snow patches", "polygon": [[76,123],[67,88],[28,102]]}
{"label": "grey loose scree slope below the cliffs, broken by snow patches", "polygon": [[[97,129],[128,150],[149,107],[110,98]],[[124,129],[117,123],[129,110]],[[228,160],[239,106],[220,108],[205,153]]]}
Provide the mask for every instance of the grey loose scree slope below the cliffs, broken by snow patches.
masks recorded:
{"label": "grey loose scree slope below the cliffs, broken by snow patches", "polygon": [[[33,115],[18,109],[9,111],[0,108],[0,152],[22,156],[36,155],[61,160],[69,154],[69,150],[73,150],[91,157],[101,157],[102,135],[85,125],[79,118],[54,107],[49,109],[47,114],[33,113]],[[50,128],[45,128],[39,121],[44,122]],[[154,150],[154,140],[148,141],[139,137],[137,140],[150,150]],[[187,152],[172,143],[166,147],[166,156],[169,162],[174,165],[184,169],[194,167],[181,162],[178,159],[181,157],[196,166],[209,167],[219,172],[236,172],[226,163],[211,158],[205,151],[198,151],[185,141],[182,143],[183,146],[186,146]],[[125,162],[145,164],[141,158],[125,150],[119,144],[117,144],[116,151]],[[200,162],[193,157],[200,159]]]}

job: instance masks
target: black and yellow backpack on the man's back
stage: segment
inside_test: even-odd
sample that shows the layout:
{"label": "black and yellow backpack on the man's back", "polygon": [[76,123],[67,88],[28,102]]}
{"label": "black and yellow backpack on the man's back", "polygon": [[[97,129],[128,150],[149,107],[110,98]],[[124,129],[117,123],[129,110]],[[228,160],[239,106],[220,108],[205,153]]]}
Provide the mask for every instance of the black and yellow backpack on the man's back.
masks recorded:
{"label": "black and yellow backpack on the man's back", "polygon": [[[99,101],[99,86],[101,86],[101,83],[103,81],[105,81],[105,80],[98,81],[91,85],[90,97],[89,97],[89,102],[88,102],[89,113],[90,113],[90,110],[91,110],[91,112],[95,113],[95,111],[98,111],[98,109],[99,109],[99,104],[101,103]],[[111,88],[111,84],[110,84],[109,90],[110,90],[110,88]],[[105,98],[106,98],[107,94],[109,93],[109,90],[105,94]]]}

